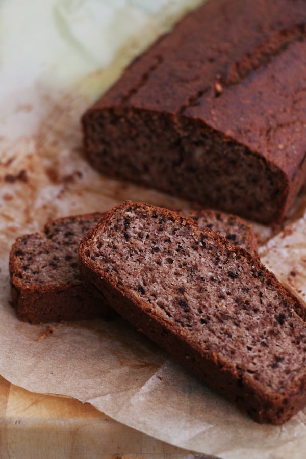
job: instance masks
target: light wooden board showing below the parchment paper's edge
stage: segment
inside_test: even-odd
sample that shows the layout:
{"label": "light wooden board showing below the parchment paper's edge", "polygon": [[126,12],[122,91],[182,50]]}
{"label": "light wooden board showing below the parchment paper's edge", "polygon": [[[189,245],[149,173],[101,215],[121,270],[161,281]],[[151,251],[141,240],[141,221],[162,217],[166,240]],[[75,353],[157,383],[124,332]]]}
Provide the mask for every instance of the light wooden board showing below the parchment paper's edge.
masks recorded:
{"label": "light wooden board showing below the parchment paper's edge", "polygon": [[192,457],[190,451],[120,424],[88,403],[34,394],[1,376],[0,410],[1,459]]}

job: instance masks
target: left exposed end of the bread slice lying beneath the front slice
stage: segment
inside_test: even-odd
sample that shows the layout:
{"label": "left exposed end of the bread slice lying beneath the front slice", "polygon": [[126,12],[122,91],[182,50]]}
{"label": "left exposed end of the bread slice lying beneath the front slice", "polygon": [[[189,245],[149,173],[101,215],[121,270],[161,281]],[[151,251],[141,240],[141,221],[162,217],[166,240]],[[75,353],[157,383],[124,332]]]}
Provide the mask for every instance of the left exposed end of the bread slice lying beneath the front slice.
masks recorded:
{"label": "left exposed end of the bread slice lying beneath the front slice", "polygon": [[104,214],[49,221],[44,233],[17,238],[10,252],[12,302],[25,322],[107,317],[111,310],[88,291],[78,260],[83,236]]}

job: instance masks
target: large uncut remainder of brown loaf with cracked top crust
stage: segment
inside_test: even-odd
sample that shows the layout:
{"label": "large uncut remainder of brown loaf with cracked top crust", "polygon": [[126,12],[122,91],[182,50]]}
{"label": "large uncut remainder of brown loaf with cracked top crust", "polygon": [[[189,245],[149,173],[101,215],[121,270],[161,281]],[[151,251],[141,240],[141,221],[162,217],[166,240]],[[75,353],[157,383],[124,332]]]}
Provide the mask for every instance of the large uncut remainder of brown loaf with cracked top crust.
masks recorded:
{"label": "large uncut remainder of brown loaf with cracked top crust", "polygon": [[211,0],[83,116],[94,168],[263,223],[306,176],[304,0]]}

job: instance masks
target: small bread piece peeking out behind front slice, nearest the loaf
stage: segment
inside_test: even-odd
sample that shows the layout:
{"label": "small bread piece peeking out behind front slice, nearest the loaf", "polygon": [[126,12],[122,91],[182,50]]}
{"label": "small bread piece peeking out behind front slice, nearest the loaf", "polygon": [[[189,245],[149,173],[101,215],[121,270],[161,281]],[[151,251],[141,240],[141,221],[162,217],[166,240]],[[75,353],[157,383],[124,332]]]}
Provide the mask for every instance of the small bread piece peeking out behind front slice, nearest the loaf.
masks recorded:
{"label": "small bread piece peeking out behind front slice, nearest the loaf", "polygon": [[258,258],[256,236],[252,227],[242,218],[210,209],[190,211],[187,216],[196,221],[200,230],[211,228],[224,236],[231,244],[243,247],[253,257]]}

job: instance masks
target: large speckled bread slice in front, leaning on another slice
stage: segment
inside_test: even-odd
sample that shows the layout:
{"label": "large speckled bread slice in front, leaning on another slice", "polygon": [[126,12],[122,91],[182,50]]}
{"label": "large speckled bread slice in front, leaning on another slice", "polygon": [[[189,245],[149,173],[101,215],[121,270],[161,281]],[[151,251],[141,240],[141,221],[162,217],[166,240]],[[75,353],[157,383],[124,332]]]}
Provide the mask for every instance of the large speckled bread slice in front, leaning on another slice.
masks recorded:
{"label": "large speckled bread slice in front, leaning on another slice", "polygon": [[306,403],[305,310],[244,249],[125,202],[83,238],[79,257],[118,313],[254,420],[281,424]]}

